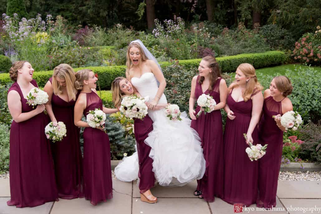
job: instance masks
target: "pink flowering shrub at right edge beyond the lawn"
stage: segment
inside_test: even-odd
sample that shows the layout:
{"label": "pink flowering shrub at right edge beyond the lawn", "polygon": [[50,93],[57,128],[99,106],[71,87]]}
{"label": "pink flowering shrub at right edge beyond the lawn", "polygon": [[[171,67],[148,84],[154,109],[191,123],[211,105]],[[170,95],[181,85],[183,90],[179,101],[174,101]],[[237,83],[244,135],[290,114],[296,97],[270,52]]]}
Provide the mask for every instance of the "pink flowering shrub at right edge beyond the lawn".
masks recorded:
{"label": "pink flowering shrub at right edge beyond the lawn", "polygon": [[321,29],[317,26],[314,33],[304,34],[299,41],[295,43],[292,56],[295,60],[307,64],[321,64]]}

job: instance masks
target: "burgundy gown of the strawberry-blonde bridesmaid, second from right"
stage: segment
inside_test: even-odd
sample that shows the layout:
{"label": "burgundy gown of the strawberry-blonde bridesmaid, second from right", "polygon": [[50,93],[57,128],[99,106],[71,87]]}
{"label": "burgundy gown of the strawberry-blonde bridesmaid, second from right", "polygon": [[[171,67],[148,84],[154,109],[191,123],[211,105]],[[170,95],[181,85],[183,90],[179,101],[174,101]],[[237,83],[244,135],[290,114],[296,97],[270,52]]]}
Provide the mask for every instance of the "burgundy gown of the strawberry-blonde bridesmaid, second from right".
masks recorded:
{"label": "burgundy gown of the strawberry-blonde bridesmaid, second from right", "polygon": [[[252,96],[259,92],[256,91]],[[243,137],[243,133],[247,133],[252,117],[252,99],[247,102],[244,100],[236,102],[231,93],[228,95],[227,104],[234,112],[235,119],[226,118],[224,130],[223,200],[230,204],[249,206],[256,202],[258,190],[258,161],[251,161],[248,158],[245,152],[248,145]],[[252,138],[254,145],[259,143],[257,126]]]}

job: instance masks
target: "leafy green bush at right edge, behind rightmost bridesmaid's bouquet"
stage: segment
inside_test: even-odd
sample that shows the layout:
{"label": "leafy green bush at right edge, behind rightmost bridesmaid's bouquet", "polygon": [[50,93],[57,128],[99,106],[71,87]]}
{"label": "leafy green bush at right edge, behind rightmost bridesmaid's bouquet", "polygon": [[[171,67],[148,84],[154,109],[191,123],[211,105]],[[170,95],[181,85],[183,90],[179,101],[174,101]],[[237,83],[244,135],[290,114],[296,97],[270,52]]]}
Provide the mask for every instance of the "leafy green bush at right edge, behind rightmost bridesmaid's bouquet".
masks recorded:
{"label": "leafy green bush at right edge, behind rightmost bridesmaid's bouquet", "polygon": [[321,82],[318,76],[320,73],[313,67],[295,67],[296,74],[288,70],[285,75],[291,79],[293,85],[292,94],[289,98],[292,101],[293,109],[298,111],[304,122],[311,119],[317,122],[321,119]]}

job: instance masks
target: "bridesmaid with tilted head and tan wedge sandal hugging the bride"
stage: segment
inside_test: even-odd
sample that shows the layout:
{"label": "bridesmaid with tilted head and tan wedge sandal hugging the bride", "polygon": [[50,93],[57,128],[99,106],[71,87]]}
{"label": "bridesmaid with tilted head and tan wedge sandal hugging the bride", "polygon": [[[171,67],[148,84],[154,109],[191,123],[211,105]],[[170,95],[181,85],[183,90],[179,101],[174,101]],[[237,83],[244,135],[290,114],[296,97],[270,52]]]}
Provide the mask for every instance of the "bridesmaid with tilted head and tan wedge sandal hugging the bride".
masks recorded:
{"label": "bridesmaid with tilted head and tan wedge sandal hugging the bride", "polygon": [[[132,84],[124,77],[117,77],[112,83],[111,90],[113,92],[113,102],[117,108],[120,107],[122,97],[134,94]],[[153,109],[158,110],[162,107],[166,107],[166,104],[157,104]],[[152,119],[148,115],[142,120],[134,118],[134,130],[139,162],[138,177],[140,179],[139,192],[141,193],[141,200],[155,203],[157,198],[150,191],[155,183],[155,176],[152,171],[153,159],[149,157],[151,147],[144,142],[148,134],[153,130]]]}

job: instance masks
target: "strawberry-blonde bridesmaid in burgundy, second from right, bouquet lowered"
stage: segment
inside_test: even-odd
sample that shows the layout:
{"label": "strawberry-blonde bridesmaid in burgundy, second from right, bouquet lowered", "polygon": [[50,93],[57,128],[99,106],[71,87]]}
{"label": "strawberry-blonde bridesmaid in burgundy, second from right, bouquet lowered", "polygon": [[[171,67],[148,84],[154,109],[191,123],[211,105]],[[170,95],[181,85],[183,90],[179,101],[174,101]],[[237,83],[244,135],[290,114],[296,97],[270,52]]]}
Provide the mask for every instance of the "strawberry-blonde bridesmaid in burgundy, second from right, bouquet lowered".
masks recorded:
{"label": "strawberry-blonde bridesmaid in burgundy, second from right, bouquet lowered", "polygon": [[[262,106],[263,89],[251,64],[240,64],[224,110],[228,118],[224,130],[224,198],[234,204],[249,206],[256,202],[258,161],[251,161],[245,149],[248,142],[258,142],[257,123]],[[243,137],[247,135],[247,141]]]}

